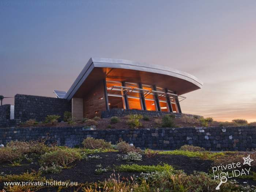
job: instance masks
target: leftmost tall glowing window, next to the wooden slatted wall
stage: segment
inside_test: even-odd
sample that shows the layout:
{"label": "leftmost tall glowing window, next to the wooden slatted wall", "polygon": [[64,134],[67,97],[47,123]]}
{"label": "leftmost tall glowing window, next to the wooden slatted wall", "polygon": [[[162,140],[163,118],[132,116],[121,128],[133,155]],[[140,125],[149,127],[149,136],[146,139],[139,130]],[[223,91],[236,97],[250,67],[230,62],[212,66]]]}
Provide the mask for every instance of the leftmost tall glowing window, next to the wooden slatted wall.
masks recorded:
{"label": "leftmost tall glowing window, next to the wooden slatted wall", "polygon": [[125,109],[123,88],[121,82],[106,81],[109,109]]}

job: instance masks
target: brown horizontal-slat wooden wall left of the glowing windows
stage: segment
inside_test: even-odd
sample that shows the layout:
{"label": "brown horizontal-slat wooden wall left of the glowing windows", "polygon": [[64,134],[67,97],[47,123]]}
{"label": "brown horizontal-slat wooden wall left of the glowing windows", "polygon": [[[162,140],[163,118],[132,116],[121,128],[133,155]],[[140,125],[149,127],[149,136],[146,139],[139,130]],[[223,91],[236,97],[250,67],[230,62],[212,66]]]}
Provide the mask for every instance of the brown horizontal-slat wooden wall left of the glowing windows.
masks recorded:
{"label": "brown horizontal-slat wooden wall left of the glowing windows", "polygon": [[105,110],[104,83],[101,81],[83,98],[83,116],[87,118],[101,117],[101,112]]}

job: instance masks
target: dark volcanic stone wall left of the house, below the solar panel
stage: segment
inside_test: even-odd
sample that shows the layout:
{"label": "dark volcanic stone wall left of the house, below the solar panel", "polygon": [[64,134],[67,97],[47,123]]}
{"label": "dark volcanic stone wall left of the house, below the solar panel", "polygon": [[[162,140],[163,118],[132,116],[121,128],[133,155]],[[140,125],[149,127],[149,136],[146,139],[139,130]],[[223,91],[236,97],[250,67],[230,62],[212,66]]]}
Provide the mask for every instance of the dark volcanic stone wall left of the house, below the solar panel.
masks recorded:
{"label": "dark volcanic stone wall left of the house, below the solar panel", "polygon": [[63,120],[65,111],[71,112],[71,102],[68,102],[67,99],[35,95],[15,95],[14,118],[21,121],[31,118],[43,121],[47,115],[60,115],[61,120]]}

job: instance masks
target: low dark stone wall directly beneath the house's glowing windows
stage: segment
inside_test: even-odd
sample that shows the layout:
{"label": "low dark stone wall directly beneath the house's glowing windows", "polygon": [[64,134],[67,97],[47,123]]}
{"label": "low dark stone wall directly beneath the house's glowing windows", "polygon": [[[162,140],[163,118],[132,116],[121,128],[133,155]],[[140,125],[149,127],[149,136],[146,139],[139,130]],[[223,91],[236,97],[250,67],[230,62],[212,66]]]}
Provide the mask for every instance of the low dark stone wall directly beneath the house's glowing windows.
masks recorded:
{"label": "low dark stone wall directly beneath the house's glowing windows", "polygon": [[153,117],[153,116],[162,116],[165,114],[174,114],[176,117],[181,117],[183,115],[194,116],[194,117],[203,117],[199,115],[185,114],[185,113],[173,113],[173,112],[161,112],[161,111],[147,111],[147,110],[136,110],[136,109],[110,109],[108,111],[103,111],[101,113],[102,118],[108,117],[121,117],[129,114],[142,114],[143,116]]}

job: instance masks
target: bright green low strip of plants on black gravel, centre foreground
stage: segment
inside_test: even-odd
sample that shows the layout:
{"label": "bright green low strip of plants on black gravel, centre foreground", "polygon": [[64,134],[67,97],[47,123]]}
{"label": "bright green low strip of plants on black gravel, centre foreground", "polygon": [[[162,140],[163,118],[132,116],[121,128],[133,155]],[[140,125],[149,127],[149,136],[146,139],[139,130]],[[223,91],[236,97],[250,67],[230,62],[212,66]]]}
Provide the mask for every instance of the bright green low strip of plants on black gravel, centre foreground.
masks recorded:
{"label": "bright green low strip of plants on black gravel, centre foreground", "polygon": [[148,173],[148,172],[163,172],[163,171],[168,171],[172,172],[173,167],[168,164],[164,165],[138,165],[138,164],[132,164],[132,165],[120,165],[116,168],[120,172],[143,172],[143,173]]}

